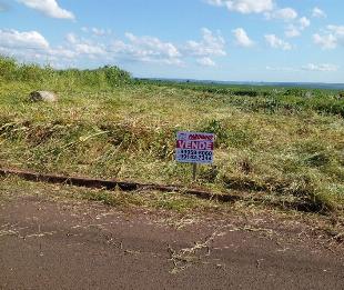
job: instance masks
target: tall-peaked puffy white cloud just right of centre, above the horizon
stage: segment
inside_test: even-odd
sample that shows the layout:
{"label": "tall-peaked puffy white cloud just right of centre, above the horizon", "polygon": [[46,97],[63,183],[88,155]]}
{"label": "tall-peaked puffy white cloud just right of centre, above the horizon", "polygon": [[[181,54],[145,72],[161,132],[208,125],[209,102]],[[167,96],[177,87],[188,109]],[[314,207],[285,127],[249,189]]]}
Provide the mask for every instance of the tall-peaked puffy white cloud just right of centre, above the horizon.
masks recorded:
{"label": "tall-peaked puffy white cloud just right of centre, above the horizon", "polygon": [[223,57],[226,56],[225,41],[220,33],[214,34],[208,28],[202,29],[202,40],[200,42],[189,40],[184,47],[186,54],[198,57]]}

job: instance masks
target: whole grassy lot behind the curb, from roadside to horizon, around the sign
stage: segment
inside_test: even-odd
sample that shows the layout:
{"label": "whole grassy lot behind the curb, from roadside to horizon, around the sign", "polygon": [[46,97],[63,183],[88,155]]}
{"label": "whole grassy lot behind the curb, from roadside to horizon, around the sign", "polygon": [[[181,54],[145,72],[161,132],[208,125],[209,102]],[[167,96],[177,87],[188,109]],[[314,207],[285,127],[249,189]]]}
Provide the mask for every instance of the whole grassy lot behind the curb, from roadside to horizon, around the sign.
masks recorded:
{"label": "whole grassy lot behind the curb, from roadside to horizon, around the sign", "polygon": [[[52,90],[57,103],[30,102]],[[343,92],[135,81],[129,73],[54,71],[0,58],[0,166],[191,186],[174,161],[179,130],[216,134],[198,183],[343,214]]]}

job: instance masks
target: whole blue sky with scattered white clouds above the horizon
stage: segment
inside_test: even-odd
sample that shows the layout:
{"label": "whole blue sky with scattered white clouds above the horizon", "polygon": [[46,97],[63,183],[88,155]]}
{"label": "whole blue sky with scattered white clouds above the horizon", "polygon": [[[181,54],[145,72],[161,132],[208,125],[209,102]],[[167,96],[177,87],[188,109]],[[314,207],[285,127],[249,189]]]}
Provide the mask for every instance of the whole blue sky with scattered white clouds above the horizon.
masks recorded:
{"label": "whole blue sky with scattered white clouds above the horizon", "polygon": [[140,78],[344,83],[343,0],[0,0],[0,54]]}

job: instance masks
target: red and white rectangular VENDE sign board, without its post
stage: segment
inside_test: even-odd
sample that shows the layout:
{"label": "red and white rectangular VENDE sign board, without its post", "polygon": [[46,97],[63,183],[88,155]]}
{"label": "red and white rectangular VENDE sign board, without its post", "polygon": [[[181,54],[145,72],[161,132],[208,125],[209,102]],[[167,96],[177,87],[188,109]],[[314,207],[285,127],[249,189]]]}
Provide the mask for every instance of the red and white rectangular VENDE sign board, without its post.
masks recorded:
{"label": "red and white rectangular VENDE sign board, without its post", "polygon": [[178,132],[175,160],[188,163],[213,163],[215,136],[212,133]]}

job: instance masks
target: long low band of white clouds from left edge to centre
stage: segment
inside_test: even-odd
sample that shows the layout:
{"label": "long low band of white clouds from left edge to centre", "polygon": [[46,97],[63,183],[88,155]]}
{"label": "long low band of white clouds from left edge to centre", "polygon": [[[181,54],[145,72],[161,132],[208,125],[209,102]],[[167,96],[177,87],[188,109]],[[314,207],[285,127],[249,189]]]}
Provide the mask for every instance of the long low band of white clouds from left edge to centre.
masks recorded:
{"label": "long low band of white clouds from left edge to centre", "polygon": [[37,31],[0,30],[0,53],[23,61],[49,62],[59,68],[85,59],[98,63],[111,63],[120,59],[183,66],[179,59],[181,54],[172,43],[132,33],[127,33],[127,43],[122,40],[101,43],[68,33],[63,46],[51,48]]}

